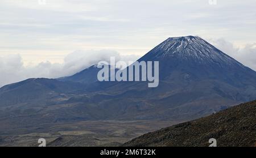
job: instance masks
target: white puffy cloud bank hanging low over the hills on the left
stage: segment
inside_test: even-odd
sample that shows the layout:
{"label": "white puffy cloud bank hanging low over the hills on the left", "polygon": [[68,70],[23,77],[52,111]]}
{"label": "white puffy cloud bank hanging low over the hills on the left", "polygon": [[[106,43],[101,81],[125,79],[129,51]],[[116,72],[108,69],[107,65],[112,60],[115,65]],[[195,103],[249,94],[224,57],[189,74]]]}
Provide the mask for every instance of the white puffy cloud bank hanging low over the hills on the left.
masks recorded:
{"label": "white puffy cloud bank hanging low over the hills on the left", "polygon": [[99,61],[108,61],[110,57],[122,61],[135,61],[138,55],[121,55],[113,50],[76,50],[64,58],[63,63],[41,62],[35,66],[24,66],[19,54],[0,57],[0,87],[28,78],[60,78],[73,75]]}

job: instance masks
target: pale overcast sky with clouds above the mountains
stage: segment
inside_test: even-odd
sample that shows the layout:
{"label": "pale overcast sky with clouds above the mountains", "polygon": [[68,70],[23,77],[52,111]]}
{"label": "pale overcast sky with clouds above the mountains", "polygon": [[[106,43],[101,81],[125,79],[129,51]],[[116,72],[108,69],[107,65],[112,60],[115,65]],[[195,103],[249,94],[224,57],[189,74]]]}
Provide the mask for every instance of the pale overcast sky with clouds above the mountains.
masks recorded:
{"label": "pale overcast sky with clouds above the mountains", "polygon": [[[56,77],[56,72],[67,75],[61,70],[69,58],[81,59],[84,55],[86,61],[73,59],[85,64],[70,69],[72,74],[96,61],[104,50],[133,60],[168,37],[188,35],[208,40],[256,70],[256,1],[213,3],[208,0],[46,0],[46,3],[1,0],[0,72],[7,79],[0,79],[0,86],[28,77]],[[44,71],[35,75],[38,67]]]}

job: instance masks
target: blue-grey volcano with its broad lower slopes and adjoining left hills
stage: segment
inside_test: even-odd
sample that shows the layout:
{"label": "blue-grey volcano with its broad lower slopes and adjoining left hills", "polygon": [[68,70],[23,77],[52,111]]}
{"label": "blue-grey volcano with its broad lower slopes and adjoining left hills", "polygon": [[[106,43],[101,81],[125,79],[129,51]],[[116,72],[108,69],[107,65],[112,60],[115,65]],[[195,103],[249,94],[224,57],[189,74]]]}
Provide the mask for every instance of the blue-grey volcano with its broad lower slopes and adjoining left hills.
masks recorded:
{"label": "blue-grey volcano with its broad lower slopes and adjoining left hills", "polygon": [[159,61],[158,87],[97,82],[95,66],[60,79],[28,79],[0,89],[0,121],[185,121],[256,99],[256,72],[200,37],[169,38],[138,61]]}

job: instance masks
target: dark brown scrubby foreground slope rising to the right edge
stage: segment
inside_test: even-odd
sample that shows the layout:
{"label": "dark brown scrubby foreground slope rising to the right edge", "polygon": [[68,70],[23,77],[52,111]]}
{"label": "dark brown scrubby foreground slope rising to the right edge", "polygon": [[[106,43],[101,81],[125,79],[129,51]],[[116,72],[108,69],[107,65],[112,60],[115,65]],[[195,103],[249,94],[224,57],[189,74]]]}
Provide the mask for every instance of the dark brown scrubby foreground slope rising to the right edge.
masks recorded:
{"label": "dark brown scrubby foreground slope rising to the right edge", "polygon": [[144,134],[123,146],[256,146],[256,100],[195,121]]}

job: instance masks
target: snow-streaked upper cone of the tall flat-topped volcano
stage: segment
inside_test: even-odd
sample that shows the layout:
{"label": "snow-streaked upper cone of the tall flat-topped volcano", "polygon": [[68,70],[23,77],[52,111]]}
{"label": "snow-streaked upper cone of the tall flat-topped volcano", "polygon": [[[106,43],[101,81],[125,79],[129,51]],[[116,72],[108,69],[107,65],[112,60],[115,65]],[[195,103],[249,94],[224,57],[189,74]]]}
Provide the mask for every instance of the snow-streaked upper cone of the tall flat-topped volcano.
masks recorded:
{"label": "snow-streaked upper cone of the tall flat-topped volcano", "polygon": [[[198,36],[170,37],[148,52],[143,60],[175,59],[180,62],[196,64],[214,64],[244,67],[229,55],[221,52]],[[141,60],[142,60],[141,59]]]}

